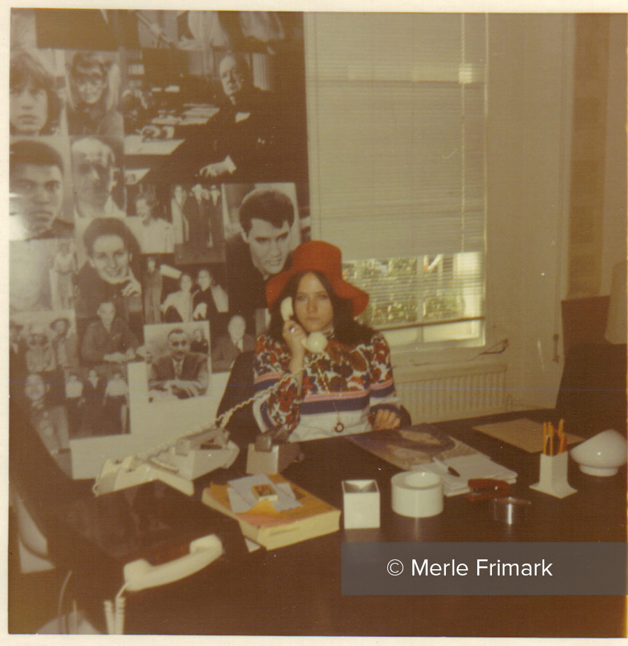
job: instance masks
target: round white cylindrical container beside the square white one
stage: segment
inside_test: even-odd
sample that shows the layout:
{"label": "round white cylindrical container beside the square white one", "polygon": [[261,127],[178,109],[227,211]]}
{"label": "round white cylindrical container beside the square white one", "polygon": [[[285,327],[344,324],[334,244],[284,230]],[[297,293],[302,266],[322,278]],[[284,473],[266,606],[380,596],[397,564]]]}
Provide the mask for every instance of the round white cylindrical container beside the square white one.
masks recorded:
{"label": "round white cylindrical container beside the square white one", "polygon": [[403,471],[391,478],[393,511],[410,518],[442,512],[442,479],[431,471]]}

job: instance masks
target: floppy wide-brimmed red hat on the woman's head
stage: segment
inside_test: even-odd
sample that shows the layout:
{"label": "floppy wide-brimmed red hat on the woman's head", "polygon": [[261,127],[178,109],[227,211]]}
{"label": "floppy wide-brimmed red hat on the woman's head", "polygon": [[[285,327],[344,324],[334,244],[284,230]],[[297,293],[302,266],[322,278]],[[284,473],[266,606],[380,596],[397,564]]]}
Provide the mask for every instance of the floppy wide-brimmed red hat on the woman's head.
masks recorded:
{"label": "floppy wide-brimmed red hat on the woman's head", "polygon": [[266,284],[268,309],[273,309],[276,300],[283,292],[287,281],[301,272],[320,272],[327,277],[336,296],[350,300],[352,314],[358,316],[368,305],[368,294],[343,280],[343,263],[341,250],[329,242],[312,240],[299,244],[292,252],[292,266],[269,279]]}

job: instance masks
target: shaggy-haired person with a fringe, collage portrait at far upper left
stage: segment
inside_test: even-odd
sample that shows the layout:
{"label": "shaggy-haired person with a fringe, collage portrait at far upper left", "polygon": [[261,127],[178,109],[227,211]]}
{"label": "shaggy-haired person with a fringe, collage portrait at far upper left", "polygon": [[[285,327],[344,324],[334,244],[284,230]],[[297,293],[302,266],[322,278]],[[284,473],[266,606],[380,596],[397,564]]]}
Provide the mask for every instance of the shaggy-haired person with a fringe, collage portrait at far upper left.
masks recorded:
{"label": "shaggy-haired person with a fringe, collage portrait at far upper left", "polygon": [[59,130],[63,103],[54,75],[36,52],[18,50],[9,71],[11,135],[52,135]]}

